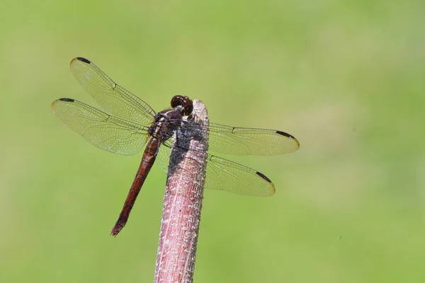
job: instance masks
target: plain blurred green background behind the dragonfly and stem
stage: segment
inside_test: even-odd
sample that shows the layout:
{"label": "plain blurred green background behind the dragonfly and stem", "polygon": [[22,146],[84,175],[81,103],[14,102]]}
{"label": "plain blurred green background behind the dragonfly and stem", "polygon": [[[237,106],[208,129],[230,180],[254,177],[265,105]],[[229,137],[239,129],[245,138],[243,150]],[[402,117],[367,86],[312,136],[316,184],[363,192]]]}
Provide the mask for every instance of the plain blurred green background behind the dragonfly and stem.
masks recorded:
{"label": "plain blurred green background behind the dragonfly and stem", "polygon": [[[268,198],[208,190],[196,282],[425,282],[422,1],[3,1],[0,282],[152,282],[165,175],[109,233],[141,153],[91,146],[50,111],[97,107],[94,61],[154,109],[177,93],[212,122],[280,129],[285,156],[224,156]],[[220,155],[222,156],[222,155]]]}

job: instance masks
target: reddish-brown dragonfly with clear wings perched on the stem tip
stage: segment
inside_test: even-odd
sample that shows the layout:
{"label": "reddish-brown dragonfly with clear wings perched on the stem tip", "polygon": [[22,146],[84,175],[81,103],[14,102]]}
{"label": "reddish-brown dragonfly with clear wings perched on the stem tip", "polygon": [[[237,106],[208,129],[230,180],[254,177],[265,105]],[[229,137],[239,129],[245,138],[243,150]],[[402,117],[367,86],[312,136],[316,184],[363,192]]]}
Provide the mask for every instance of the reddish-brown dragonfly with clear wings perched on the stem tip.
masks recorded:
{"label": "reddish-brown dragonfly with clear wings perched on the stem tip", "polygon": [[[119,86],[89,59],[74,58],[70,68],[81,87],[106,112],[72,98],[55,100],[52,112],[67,127],[100,149],[132,155],[145,147],[128,197],[111,231],[112,236],[117,236],[127,223],[154,162],[161,161],[159,165],[167,173],[166,161],[173,146],[186,146],[176,139],[183,125],[185,130],[208,127],[208,152],[271,156],[288,154],[300,147],[295,137],[275,129],[232,127],[212,122],[209,125],[189,125],[183,120],[193,110],[193,102],[187,96],[174,96],[171,108],[155,112],[144,100]],[[274,195],[275,187],[263,173],[209,153],[207,156],[205,188],[239,195]]]}

